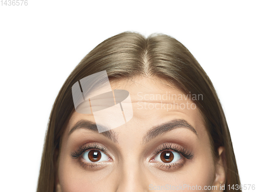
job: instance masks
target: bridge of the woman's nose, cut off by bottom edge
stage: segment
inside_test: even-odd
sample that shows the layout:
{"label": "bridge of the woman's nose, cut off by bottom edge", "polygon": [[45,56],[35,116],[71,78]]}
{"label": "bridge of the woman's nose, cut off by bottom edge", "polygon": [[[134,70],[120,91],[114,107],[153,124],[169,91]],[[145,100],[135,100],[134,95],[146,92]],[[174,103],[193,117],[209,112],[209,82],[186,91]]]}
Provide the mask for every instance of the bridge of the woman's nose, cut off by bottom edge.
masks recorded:
{"label": "bridge of the woman's nose, cut off by bottom edge", "polygon": [[146,192],[148,181],[145,168],[139,162],[133,161],[122,164],[118,174],[119,183],[116,192]]}

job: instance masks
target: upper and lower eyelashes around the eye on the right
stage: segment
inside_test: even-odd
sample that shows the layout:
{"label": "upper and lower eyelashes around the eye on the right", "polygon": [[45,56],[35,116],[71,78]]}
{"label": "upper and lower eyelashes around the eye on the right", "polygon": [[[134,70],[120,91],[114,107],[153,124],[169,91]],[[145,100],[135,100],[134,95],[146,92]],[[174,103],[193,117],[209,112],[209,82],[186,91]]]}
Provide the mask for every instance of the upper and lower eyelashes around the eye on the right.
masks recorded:
{"label": "upper and lower eyelashes around the eye on the right", "polygon": [[[168,150],[172,150],[174,152],[179,153],[180,155],[182,155],[184,158],[191,160],[194,157],[194,154],[188,150],[186,150],[185,148],[177,145],[177,144],[172,144],[172,143],[163,143],[160,147],[158,147],[155,151],[154,151],[154,157],[156,157],[156,155],[160,154],[161,152],[164,151],[168,151]],[[179,163],[158,163],[160,164],[160,167],[164,167],[165,169],[169,169],[169,168],[178,168],[181,167],[185,164],[185,162],[179,162]]]}

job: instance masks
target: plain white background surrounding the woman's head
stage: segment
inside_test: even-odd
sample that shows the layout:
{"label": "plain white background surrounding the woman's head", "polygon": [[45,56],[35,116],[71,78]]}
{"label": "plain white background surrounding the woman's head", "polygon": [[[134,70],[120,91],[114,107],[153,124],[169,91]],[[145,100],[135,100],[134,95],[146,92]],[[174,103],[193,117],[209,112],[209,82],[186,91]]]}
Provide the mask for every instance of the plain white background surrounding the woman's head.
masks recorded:
{"label": "plain white background surrounding the woman's head", "polygon": [[173,36],[196,57],[223,105],[241,182],[256,184],[255,7],[253,1],[0,5],[0,191],[36,190],[58,91],[89,51],[124,31]]}

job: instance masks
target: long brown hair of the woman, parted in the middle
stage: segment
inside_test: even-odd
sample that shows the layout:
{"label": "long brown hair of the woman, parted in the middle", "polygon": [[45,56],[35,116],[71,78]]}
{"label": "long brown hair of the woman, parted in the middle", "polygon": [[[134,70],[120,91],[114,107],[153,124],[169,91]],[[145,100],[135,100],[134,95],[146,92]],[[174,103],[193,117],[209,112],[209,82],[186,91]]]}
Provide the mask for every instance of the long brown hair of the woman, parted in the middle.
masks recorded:
{"label": "long brown hair of the woman, parted in the middle", "polygon": [[[135,32],[110,37],[87,54],[61,87],[50,114],[37,192],[53,192],[56,185],[60,141],[68,119],[74,111],[72,86],[79,79],[106,70],[109,80],[134,76],[157,77],[175,84],[186,94],[202,94],[195,100],[211,142],[214,159],[218,148],[225,147],[226,185],[239,184],[240,179],[227,121],[209,77],[195,57],[181,42],[165,34],[147,38]],[[225,191],[229,191],[225,188]],[[238,190],[241,191],[241,190]]]}

